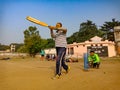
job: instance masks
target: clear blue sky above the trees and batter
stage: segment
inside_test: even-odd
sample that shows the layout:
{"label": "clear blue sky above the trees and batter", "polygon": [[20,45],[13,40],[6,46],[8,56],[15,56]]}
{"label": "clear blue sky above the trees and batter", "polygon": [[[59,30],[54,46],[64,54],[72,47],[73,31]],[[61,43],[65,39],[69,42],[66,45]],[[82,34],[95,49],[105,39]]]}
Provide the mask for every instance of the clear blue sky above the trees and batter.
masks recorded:
{"label": "clear blue sky above the trees and batter", "polygon": [[53,26],[61,22],[68,37],[87,20],[98,28],[113,18],[120,21],[120,0],[0,0],[1,44],[24,43],[29,26],[36,26],[42,38],[51,38],[47,27],[27,21],[27,16]]}

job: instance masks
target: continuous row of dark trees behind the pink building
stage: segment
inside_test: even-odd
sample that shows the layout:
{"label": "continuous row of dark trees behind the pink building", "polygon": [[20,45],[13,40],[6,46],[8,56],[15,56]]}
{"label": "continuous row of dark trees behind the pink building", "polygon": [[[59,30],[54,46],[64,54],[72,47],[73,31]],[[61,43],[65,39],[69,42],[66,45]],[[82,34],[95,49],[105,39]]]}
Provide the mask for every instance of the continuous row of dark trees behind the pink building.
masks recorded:
{"label": "continuous row of dark trees behind the pink building", "polygon": [[109,41],[114,40],[114,27],[120,26],[120,22],[112,19],[112,21],[106,21],[99,28],[95,23],[90,20],[83,22],[80,24],[80,29],[78,32],[73,33],[70,37],[67,38],[68,43],[73,42],[84,42],[89,40],[94,36],[99,36],[104,40],[107,39]]}

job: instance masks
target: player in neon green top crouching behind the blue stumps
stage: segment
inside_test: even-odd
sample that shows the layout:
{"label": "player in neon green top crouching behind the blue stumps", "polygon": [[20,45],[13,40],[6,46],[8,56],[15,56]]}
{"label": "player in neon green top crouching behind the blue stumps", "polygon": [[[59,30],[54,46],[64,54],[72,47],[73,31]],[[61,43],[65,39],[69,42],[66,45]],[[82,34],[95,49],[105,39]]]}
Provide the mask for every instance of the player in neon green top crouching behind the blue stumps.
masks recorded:
{"label": "player in neon green top crouching behind the blue stumps", "polygon": [[99,68],[100,58],[99,58],[98,54],[94,53],[94,51],[90,51],[88,61],[93,62],[93,68]]}

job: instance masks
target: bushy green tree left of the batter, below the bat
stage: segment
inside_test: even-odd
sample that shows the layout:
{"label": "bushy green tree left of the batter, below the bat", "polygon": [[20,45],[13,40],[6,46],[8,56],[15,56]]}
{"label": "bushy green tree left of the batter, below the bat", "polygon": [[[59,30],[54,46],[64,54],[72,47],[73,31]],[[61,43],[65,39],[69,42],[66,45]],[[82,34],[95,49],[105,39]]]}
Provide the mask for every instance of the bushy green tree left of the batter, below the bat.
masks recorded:
{"label": "bushy green tree left of the batter, below the bat", "polygon": [[44,49],[46,43],[47,40],[41,38],[36,27],[30,26],[24,31],[24,45],[30,56],[35,57],[41,48]]}

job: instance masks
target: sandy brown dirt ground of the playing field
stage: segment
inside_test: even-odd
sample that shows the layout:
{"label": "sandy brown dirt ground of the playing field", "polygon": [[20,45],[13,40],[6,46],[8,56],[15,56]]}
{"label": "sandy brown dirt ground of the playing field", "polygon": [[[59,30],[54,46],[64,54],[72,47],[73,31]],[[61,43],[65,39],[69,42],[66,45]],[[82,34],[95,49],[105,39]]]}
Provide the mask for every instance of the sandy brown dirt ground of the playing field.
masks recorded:
{"label": "sandy brown dirt ground of the playing field", "polygon": [[52,80],[55,61],[38,58],[0,60],[0,90],[119,90],[120,58],[103,58],[100,69],[84,71],[83,60],[67,63],[60,79]]}

